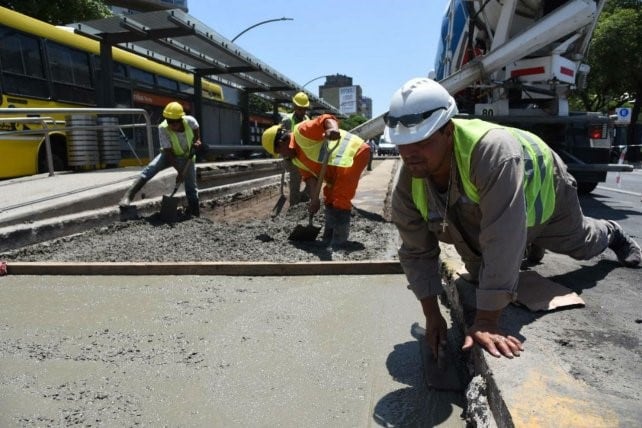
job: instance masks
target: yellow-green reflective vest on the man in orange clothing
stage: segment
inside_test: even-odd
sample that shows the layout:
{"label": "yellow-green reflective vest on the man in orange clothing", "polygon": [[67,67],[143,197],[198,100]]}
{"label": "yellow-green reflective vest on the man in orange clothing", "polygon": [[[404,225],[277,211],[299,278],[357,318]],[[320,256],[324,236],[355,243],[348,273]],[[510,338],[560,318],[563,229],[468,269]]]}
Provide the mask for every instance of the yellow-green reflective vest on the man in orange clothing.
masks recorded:
{"label": "yellow-green reflective vest on the man in orange clothing", "polygon": [[[338,142],[330,141],[328,142],[329,147],[327,147],[325,144],[319,144],[319,140],[313,140],[301,134],[298,125],[294,127],[294,139],[297,145],[312,162],[322,164],[327,150],[332,150],[330,158],[328,159],[328,165],[339,168],[349,168],[352,166],[354,156],[357,154],[361,144],[363,144],[363,140],[343,129],[339,130],[339,134]],[[292,159],[292,163],[298,168],[316,175],[316,173],[307,167],[304,162],[299,160],[299,158]]]}

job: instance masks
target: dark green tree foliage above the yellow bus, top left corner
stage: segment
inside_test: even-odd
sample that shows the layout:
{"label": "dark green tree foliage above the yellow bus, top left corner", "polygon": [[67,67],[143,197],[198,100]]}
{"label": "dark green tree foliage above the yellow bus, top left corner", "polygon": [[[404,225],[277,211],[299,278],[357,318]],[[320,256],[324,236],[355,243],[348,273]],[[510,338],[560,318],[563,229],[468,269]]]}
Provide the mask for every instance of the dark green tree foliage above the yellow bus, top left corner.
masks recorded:
{"label": "dark green tree foliage above the yellow bus, top left corner", "polygon": [[53,25],[111,16],[102,0],[0,0],[0,6]]}

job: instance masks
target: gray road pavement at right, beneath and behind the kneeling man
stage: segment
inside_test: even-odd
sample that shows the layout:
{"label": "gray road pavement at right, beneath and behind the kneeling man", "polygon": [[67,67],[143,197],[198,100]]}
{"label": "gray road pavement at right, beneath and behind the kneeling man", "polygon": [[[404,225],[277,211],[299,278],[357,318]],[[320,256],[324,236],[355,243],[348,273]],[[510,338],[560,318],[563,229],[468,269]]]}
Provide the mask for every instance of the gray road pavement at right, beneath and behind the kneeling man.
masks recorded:
{"label": "gray road pavement at right, beneath and behind the kneeling man", "polygon": [[[642,244],[642,172],[609,174],[586,215],[618,221]],[[486,358],[515,426],[639,426],[642,420],[642,269],[606,250],[591,260],[546,253],[532,267],[575,291],[583,308],[533,313],[509,306],[502,324],[520,338],[520,358]]]}

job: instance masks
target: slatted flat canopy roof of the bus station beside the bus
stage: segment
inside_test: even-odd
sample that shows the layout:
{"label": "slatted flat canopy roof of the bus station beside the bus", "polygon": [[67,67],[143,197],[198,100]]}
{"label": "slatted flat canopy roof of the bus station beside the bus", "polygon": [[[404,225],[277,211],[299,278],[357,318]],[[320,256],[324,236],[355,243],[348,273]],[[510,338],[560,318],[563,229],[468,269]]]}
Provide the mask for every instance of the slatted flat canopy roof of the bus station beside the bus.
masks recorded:
{"label": "slatted flat canopy roof of the bus station beside the bus", "polygon": [[149,59],[291,105],[305,92],[310,109],[339,111],[180,9],[112,16],[70,24],[75,32]]}

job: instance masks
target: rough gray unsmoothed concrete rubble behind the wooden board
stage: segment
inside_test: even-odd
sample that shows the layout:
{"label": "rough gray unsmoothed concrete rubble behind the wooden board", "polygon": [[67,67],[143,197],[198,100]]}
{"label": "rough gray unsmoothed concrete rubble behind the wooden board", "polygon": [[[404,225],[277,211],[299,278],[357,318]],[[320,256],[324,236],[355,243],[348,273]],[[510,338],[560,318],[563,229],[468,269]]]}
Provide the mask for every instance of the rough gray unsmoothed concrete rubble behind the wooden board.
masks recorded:
{"label": "rough gray unsmoothed concrete rubble behind the wooden board", "polygon": [[[252,193],[252,192],[250,192]],[[307,204],[286,206],[272,218],[278,195],[237,194],[203,201],[202,216],[162,221],[159,214],[119,222],[84,233],[0,254],[6,261],[172,262],[172,261],[328,261],[396,258],[397,232],[380,215],[352,210],[350,238],[331,251],[319,238],[288,240],[297,225],[307,225]],[[313,224],[323,226],[321,209]]]}

